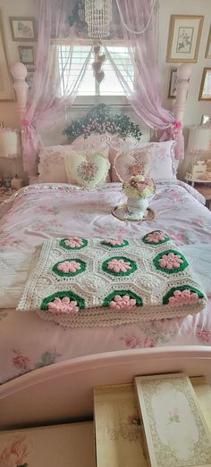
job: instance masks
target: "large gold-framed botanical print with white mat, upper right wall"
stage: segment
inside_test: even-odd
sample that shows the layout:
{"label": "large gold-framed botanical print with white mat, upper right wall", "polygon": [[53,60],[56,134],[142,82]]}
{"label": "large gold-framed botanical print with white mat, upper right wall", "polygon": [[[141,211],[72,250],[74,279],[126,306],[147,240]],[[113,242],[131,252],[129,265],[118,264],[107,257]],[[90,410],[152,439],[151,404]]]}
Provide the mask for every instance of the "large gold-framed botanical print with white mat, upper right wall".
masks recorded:
{"label": "large gold-framed botanical print with white mat, upper right wall", "polygon": [[197,62],[203,21],[204,16],[171,15],[166,62]]}

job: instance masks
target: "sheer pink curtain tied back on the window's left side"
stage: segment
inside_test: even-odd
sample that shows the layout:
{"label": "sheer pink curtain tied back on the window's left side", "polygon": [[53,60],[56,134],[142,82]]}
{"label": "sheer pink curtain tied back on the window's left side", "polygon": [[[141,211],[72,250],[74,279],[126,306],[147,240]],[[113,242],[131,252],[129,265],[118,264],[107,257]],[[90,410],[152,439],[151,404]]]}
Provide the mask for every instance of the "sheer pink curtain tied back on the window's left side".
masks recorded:
{"label": "sheer pink curtain tied back on the window's left side", "polygon": [[[39,129],[47,121],[57,121],[70,108],[88,66],[87,53],[80,73],[70,79],[72,36],[68,16],[72,0],[40,0],[38,59],[33,87],[22,120],[23,168],[30,176],[38,173]],[[63,71],[59,70],[59,54],[63,54]]]}

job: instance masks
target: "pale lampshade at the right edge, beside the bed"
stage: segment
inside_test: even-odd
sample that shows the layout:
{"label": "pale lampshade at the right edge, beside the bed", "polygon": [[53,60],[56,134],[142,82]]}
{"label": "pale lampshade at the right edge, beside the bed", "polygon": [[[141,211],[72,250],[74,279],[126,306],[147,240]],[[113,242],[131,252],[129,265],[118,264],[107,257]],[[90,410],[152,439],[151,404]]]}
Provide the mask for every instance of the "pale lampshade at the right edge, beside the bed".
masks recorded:
{"label": "pale lampshade at the right edge, beside the bed", "polygon": [[207,153],[210,151],[211,129],[206,127],[190,127],[188,152],[189,153]]}

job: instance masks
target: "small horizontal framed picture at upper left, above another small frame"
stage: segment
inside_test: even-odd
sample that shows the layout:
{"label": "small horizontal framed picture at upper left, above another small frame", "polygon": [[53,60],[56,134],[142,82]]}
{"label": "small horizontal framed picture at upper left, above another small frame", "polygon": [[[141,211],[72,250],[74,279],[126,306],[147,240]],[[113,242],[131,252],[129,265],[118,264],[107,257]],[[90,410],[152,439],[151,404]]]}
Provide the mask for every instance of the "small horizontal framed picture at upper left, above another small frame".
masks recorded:
{"label": "small horizontal framed picture at upper left, above another small frame", "polygon": [[21,18],[19,16],[10,17],[13,40],[30,41],[36,40],[34,18]]}

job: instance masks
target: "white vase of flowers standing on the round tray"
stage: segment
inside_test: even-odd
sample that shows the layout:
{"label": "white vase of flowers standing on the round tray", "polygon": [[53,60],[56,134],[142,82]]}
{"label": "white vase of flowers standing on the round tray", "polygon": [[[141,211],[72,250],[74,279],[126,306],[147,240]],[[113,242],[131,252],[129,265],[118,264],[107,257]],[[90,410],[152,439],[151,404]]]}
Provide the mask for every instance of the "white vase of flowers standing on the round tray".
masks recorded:
{"label": "white vase of flowers standing on the round tray", "polygon": [[123,183],[123,192],[128,197],[127,207],[131,214],[139,215],[142,219],[148,209],[150,198],[156,191],[153,179],[144,175],[135,175]]}

